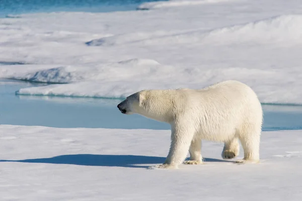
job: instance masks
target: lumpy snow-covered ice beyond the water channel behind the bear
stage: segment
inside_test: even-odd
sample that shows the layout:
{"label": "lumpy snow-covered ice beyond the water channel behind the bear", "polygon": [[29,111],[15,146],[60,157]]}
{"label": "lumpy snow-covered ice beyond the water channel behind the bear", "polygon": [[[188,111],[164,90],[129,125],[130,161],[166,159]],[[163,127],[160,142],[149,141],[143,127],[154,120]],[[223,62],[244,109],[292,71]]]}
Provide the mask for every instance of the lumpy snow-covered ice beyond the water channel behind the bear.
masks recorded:
{"label": "lumpy snow-covered ice beyond the water channel behind the bear", "polygon": [[19,64],[0,66],[0,77],[55,83],[18,94],[117,98],[235,79],[262,103],[302,104],[299,1],[175,0],[142,7],[151,10],[0,19],[0,65]]}

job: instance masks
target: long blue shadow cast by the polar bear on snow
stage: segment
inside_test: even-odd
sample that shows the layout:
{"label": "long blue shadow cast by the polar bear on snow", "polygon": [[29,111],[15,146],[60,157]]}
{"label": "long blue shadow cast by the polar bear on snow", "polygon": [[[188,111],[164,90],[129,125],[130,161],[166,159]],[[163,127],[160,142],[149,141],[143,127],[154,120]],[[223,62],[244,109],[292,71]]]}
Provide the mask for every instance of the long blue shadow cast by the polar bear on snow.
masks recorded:
{"label": "long blue shadow cast by the polar bear on snow", "polygon": [[[166,157],[158,156],[74,154],[55,156],[51,158],[0,160],[0,162],[50,163],[85,166],[147,168],[150,165],[145,164],[162,164],[165,162],[165,159]],[[204,160],[206,162],[230,162],[213,158],[204,158]]]}

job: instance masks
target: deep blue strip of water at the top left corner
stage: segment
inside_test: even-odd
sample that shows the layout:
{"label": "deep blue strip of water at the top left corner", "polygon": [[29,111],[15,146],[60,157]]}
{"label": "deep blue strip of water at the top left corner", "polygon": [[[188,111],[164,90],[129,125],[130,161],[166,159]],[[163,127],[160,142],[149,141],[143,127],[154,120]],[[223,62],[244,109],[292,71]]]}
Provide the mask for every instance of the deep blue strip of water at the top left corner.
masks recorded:
{"label": "deep blue strip of water at the top left corner", "polygon": [[0,17],[59,11],[127,11],[135,10],[141,3],[156,1],[158,0],[0,0]]}

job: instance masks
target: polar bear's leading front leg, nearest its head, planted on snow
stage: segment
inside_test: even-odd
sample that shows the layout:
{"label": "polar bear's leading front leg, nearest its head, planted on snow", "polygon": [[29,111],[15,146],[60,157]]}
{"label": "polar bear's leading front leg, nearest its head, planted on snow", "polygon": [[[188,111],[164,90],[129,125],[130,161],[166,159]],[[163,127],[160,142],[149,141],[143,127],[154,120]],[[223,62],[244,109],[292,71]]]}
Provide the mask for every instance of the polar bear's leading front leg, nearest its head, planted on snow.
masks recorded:
{"label": "polar bear's leading front leg, nearest its head, planted on snow", "polygon": [[185,160],[194,135],[190,127],[175,127],[171,129],[171,146],[164,164],[156,168],[177,169]]}

